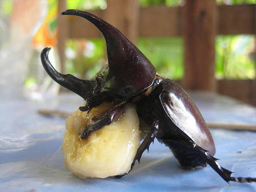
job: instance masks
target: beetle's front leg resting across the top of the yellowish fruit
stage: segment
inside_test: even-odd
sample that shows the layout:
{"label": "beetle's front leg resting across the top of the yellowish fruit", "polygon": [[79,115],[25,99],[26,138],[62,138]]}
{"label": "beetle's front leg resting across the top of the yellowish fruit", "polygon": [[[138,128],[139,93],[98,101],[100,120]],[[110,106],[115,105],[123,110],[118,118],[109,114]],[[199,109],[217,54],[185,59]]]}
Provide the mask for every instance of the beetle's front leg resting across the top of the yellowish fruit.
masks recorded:
{"label": "beetle's front leg resting across the top of the yellowish fruit", "polygon": [[100,130],[103,126],[111,124],[113,121],[118,120],[124,114],[125,103],[114,106],[111,110],[102,115],[102,118],[87,125],[84,132],[81,134],[81,139],[86,139],[90,133]]}

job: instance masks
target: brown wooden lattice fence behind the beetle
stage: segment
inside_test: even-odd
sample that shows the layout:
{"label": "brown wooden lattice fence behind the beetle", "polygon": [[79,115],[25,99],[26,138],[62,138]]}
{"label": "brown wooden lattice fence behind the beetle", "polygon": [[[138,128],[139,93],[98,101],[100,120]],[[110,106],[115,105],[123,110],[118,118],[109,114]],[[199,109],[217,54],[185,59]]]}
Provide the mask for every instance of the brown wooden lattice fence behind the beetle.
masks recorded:
{"label": "brown wooden lattice fence behind the beetle", "polygon": [[[59,13],[66,9],[65,2],[59,1]],[[141,8],[137,0],[108,0],[108,8],[90,12],[107,20],[135,44],[138,37],[183,36],[185,75],[181,84],[185,89],[216,91],[256,105],[255,78],[215,79],[216,35],[256,34],[256,5],[217,6],[215,0],[185,0],[182,7]],[[58,22],[62,66],[67,38],[102,37],[96,27],[80,17],[60,16]]]}

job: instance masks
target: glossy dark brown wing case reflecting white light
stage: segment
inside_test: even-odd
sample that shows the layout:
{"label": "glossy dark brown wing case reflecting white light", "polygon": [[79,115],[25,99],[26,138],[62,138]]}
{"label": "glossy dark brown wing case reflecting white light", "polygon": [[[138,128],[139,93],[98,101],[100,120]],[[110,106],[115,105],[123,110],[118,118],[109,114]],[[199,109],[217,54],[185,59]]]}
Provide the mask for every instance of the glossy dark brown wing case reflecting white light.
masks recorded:
{"label": "glossy dark brown wing case reflecting white light", "polygon": [[159,98],[166,115],[192,141],[214,156],[214,140],[197,106],[175,82],[165,79],[161,84],[163,91]]}

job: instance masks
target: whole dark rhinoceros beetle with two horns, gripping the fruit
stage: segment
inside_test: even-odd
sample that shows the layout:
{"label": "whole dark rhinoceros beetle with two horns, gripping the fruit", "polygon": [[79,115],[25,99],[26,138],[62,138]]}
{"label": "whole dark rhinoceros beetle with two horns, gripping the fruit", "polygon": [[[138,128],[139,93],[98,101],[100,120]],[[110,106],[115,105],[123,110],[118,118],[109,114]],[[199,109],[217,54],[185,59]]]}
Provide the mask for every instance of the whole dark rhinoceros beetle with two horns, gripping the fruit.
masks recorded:
{"label": "whole dark rhinoceros beetle with two horns, gripping the fruit", "polygon": [[125,113],[124,106],[132,102],[136,105],[140,126],[151,131],[139,146],[131,170],[156,137],[172,150],[181,167],[209,164],[226,182],[256,181],[250,177],[231,177],[232,172],[217,163],[213,157],[214,140],[196,105],[178,84],[157,74],[152,63],[119,30],[88,12],[67,10],[62,15],[81,16],[93,23],[105,38],[108,54],[108,63],[100,72],[93,79],[82,80],[57,72],[48,59],[50,48],[41,52],[47,73],[87,101],[86,106],[80,106],[81,111],[89,113],[103,102],[114,102],[113,109],[84,127],[81,139],[119,119]]}

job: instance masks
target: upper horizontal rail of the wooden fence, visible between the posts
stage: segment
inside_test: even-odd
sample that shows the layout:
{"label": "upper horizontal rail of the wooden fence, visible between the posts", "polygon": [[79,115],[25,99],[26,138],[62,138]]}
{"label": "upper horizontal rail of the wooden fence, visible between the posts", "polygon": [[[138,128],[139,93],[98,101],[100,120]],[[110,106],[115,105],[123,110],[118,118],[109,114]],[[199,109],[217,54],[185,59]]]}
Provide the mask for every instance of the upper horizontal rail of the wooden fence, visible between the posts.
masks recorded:
{"label": "upper horizontal rail of the wooden fence, visible between the posts", "polygon": [[[183,9],[166,6],[140,8],[138,36],[181,36]],[[90,12],[104,19],[104,11]],[[217,6],[217,34],[255,34],[255,12],[256,5]],[[68,29],[69,38],[101,37],[96,27],[80,17],[69,16]]]}

